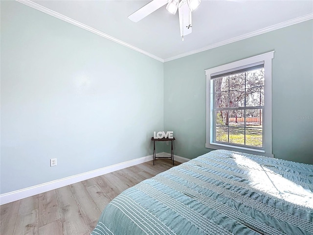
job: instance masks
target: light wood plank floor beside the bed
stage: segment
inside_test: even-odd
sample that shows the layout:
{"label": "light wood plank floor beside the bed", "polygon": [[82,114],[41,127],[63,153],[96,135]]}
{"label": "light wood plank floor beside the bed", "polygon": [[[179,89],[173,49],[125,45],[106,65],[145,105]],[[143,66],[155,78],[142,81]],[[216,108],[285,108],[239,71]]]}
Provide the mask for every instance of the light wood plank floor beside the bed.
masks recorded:
{"label": "light wood plank floor beside the bed", "polygon": [[115,196],[172,166],[151,161],[2,205],[0,234],[89,235]]}

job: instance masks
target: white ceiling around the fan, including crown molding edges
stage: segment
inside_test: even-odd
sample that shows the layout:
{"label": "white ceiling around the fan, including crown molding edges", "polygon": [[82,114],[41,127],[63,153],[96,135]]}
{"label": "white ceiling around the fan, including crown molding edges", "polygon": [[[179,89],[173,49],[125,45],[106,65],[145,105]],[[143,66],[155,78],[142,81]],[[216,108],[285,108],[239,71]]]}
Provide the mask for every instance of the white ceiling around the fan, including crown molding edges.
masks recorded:
{"label": "white ceiling around the fan, including crown molding edges", "polygon": [[160,61],[313,19],[312,0],[202,0],[192,13],[192,33],[182,42],[178,13],[170,14],[165,6],[138,23],[127,18],[150,0],[19,1],[72,24],[84,24]]}

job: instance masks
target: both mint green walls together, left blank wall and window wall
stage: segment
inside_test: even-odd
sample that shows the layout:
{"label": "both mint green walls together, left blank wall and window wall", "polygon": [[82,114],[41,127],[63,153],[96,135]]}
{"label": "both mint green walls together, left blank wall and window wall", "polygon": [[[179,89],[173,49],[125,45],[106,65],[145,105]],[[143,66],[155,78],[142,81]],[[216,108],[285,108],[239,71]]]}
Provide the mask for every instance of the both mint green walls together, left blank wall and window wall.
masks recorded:
{"label": "both mint green walls together, left blank wall and window wall", "polygon": [[271,50],[273,153],[313,164],[313,21],[162,64],[19,2],[0,4],[1,194],[150,155],[163,123],[175,154],[208,152],[204,70]]}

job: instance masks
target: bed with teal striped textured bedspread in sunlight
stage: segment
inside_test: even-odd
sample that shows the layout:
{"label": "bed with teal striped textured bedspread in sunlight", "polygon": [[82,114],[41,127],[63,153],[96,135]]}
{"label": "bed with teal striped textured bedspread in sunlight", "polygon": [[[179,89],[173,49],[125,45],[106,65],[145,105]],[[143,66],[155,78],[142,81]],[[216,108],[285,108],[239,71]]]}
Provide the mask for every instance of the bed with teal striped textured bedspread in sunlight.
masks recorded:
{"label": "bed with teal striped textured bedspread in sunlight", "polygon": [[313,165],[214,150],[128,188],[91,235],[313,235]]}

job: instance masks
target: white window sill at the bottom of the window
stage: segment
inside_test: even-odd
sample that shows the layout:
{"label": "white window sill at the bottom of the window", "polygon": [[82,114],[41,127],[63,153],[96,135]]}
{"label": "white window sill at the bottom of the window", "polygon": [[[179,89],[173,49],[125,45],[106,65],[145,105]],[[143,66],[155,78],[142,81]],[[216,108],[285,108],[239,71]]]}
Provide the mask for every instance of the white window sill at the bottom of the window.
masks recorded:
{"label": "white window sill at the bottom of the window", "polygon": [[205,147],[211,148],[211,149],[226,149],[230,151],[240,151],[244,153],[256,154],[256,155],[266,156],[270,158],[274,157],[273,154],[266,153],[264,149],[254,149],[254,148],[241,147],[241,146],[235,146],[235,145],[229,145],[229,144],[223,144],[223,143],[205,143]]}

